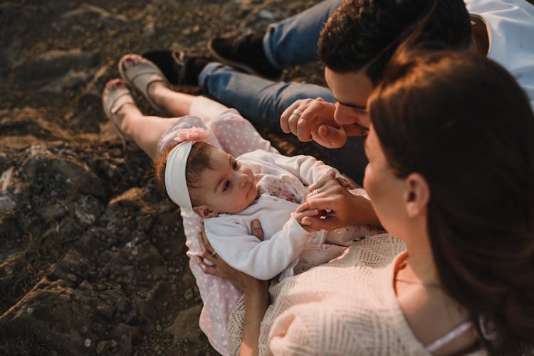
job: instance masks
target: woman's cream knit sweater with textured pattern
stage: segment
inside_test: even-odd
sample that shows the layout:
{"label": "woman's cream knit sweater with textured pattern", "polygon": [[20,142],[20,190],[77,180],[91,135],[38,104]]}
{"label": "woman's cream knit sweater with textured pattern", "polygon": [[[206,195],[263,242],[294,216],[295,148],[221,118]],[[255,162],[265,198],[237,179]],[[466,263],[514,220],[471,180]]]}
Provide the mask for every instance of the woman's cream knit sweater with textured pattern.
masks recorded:
{"label": "woman's cream knit sweater with textured pattern", "polygon": [[[389,234],[375,235],[328,264],[271,285],[260,354],[429,355],[393,289],[394,262],[404,249]],[[241,298],[229,318],[230,355],[239,354],[243,320]]]}

